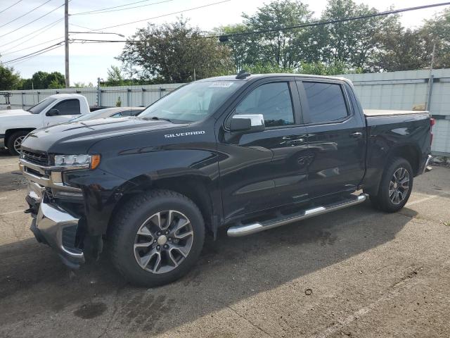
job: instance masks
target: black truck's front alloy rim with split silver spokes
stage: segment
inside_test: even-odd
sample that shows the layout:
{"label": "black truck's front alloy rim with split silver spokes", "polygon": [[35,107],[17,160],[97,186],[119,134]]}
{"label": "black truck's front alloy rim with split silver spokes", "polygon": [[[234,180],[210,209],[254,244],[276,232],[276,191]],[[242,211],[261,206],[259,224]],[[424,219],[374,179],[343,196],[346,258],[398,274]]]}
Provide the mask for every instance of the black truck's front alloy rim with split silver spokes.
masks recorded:
{"label": "black truck's front alloy rim with split silver spokes", "polygon": [[193,244],[191,221],[179,211],[151,215],[134,239],[134,258],[150,273],[168,273],[188,256]]}

